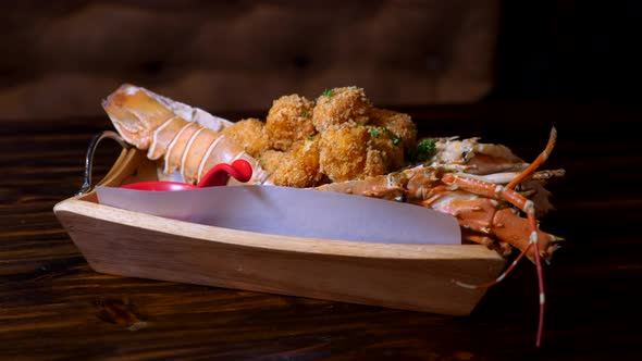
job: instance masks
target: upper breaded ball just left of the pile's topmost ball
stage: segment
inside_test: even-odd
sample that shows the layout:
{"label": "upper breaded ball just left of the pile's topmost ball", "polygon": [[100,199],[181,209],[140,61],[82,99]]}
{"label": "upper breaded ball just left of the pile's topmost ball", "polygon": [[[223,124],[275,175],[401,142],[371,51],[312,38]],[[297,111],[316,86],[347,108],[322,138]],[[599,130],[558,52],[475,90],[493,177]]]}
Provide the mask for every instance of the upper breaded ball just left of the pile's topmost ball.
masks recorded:
{"label": "upper breaded ball just left of the pile's topmost ball", "polygon": [[317,133],[312,124],[313,109],[313,101],[298,95],[274,100],[266,120],[270,146],[288,150],[295,141],[313,136]]}

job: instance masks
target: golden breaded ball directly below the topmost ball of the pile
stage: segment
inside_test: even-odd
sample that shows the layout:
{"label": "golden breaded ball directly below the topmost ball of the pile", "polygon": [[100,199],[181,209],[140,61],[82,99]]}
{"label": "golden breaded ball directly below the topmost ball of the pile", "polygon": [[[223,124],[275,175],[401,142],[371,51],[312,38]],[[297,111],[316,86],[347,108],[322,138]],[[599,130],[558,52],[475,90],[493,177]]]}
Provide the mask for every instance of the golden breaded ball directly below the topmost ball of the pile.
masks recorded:
{"label": "golden breaded ball directly below the topmost ball of the pile", "polygon": [[319,164],[332,182],[361,179],[370,135],[363,126],[344,123],[321,133]]}

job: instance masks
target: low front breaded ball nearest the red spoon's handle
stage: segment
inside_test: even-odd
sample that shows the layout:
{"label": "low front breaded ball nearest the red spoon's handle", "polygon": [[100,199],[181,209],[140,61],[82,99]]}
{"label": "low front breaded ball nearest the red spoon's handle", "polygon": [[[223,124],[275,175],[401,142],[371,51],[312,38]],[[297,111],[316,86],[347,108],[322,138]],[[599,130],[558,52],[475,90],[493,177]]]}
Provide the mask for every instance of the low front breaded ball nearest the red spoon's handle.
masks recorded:
{"label": "low front breaded ball nearest the red spoon's handle", "polygon": [[318,137],[299,140],[286,152],[268,150],[260,162],[271,172],[269,179],[277,186],[306,188],[321,180]]}

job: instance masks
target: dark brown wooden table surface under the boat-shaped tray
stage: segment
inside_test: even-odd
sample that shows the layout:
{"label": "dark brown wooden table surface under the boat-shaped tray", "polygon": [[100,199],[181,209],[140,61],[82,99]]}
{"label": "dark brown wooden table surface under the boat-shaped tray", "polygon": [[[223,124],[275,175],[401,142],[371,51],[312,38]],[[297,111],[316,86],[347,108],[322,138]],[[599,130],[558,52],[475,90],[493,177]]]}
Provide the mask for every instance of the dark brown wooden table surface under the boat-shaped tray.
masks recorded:
{"label": "dark brown wooden table surface under the boat-shaped tray", "polygon": [[[642,155],[639,108],[477,104],[406,109],[423,135],[482,136],[526,159],[558,144],[547,167],[567,238],[545,266],[547,313],[535,349],[532,264],[490,289],[470,316],[445,316],[95,273],[53,206],[82,183],[107,117],[0,124],[0,359],[640,359]],[[259,115],[257,112],[243,115]],[[240,114],[231,119],[238,119]],[[101,144],[96,176],[119,147]],[[118,237],[119,235],[113,235]],[[133,329],[141,320],[146,327]]]}

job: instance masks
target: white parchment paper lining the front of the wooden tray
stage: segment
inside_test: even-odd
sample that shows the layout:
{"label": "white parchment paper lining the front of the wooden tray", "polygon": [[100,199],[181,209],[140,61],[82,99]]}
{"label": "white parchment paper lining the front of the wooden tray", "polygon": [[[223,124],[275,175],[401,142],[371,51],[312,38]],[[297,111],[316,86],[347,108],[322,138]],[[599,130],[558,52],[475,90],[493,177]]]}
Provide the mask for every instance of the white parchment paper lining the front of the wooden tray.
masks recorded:
{"label": "white parchment paper lining the front of the wooden tray", "polygon": [[427,208],[312,189],[226,186],[182,191],[97,187],[101,204],[233,229],[296,237],[460,245],[457,221]]}

